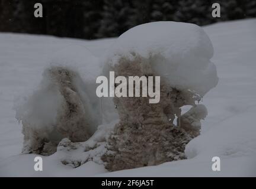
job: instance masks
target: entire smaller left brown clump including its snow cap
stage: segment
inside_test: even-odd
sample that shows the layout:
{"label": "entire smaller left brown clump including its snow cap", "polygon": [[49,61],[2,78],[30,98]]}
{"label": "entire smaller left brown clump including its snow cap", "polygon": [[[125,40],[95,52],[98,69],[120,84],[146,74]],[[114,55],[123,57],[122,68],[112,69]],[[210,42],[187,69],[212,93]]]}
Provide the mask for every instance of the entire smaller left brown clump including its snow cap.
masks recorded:
{"label": "entire smaller left brown clump including its snow cap", "polygon": [[[86,141],[101,123],[100,104],[90,96],[98,67],[86,67],[84,61],[90,56],[78,47],[58,52],[44,70],[39,89],[16,107],[16,118],[23,123],[23,153],[53,154],[61,139]],[[97,66],[95,59],[90,60],[92,66]],[[79,66],[81,70],[86,67],[84,80],[75,70]]]}

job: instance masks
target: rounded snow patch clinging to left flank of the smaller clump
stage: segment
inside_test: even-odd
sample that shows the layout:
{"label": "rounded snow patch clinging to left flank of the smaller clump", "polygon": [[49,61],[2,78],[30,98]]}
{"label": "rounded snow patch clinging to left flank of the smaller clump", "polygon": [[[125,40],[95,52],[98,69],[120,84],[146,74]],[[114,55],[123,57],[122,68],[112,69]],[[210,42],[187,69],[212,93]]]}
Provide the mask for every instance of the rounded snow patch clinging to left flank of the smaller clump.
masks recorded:
{"label": "rounded snow patch clinging to left flank of the smaller clump", "polygon": [[[49,78],[43,77],[40,86],[34,92],[21,97],[14,104],[17,120],[30,120],[34,128],[48,127],[56,124],[57,110],[63,102],[63,96],[56,86],[51,86]],[[52,128],[47,128],[52,130]],[[44,133],[41,133],[42,135]]]}

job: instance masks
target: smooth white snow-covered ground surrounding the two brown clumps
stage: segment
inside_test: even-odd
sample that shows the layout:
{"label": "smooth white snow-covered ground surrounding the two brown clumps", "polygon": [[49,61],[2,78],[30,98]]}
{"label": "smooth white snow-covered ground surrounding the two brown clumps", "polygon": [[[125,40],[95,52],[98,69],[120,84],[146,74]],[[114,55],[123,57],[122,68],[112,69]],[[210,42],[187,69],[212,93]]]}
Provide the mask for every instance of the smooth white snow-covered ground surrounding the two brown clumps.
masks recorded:
{"label": "smooth white snow-covered ground surrounding the two brown clumps", "polygon": [[[211,61],[219,83],[203,98],[209,115],[201,135],[186,147],[189,159],[117,172],[107,172],[92,161],[74,169],[63,165],[56,154],[43,157],[43,171],[34,171],[38,155],[20,154],[23,135],[13,109],[17,97],[39,84],[53,53],[82,45],[102,57],[116,39],[0,34],[0,176],[256,176],[256,19],[203,28],[215,50]],[[220,157],[220,171],[212,171],[215,156]]]}

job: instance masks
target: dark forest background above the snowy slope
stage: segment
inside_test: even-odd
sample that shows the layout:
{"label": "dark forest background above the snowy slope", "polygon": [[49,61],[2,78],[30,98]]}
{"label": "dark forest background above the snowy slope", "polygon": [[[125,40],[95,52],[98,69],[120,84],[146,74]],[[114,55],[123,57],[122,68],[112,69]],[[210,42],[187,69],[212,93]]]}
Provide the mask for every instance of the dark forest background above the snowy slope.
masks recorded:
{"label": "dark forest background above the snowy slope", "polygon": [[[43,18],[34,17],[34,4]],[[221,17],[212,17],[212,4]],[[116,37],[135,25],[182,21],[197,25],[256,17],[255,0],[0,0],[0,31],[75,38]]]}

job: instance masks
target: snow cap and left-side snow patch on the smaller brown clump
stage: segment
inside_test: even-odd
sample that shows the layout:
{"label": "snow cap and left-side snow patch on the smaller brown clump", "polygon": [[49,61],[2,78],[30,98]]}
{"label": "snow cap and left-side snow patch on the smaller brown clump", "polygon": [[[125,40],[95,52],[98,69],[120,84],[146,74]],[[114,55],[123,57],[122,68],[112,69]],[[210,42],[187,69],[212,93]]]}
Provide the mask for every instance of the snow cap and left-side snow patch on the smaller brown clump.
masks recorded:
{"label": "snow cap and left-side snow patch on the smaller brown clump", "polygon": [[[56,86],[52,86],[52,80],[47,76],[47,70],[52,68],[63,68],[76,73],[73,79],[73,85],[78,90],[82,99],[89,103],[91,114],[95,115],[95,122],[101,123],[100,115],[100,99],[96,96],[96,84],[95,80],[100,76],[100,62],[98,57],[95,57],[87,48],[80,45],[68,45],[65,48],[54,52],[49,58],[46,64],[41,82],[37,86],[36,90],[27,92],[25,97],[19,97],[14,105],[14,109],[17,110],[17,117],[21,118],[26,115],[33,115],[30,120],[35,119],[35,124],[40,116],[40,123],[53,122],[56,118],[56,110],[60,107],[63,96],[58,92]],[[49,89],[50,86],[50,89]],[[40,107],[37,109],[36,107]],[[28,110],[31,110],[29,113]],[[36,116],[38,115],[38,116]],[[98,120],[98,121],[96,121]],[[43,124],[44,125],[44,124]],[[47,123],[46,123],[47,125]],[[95,130],[92,129],[92,130]]]}

